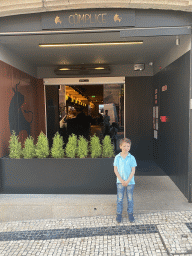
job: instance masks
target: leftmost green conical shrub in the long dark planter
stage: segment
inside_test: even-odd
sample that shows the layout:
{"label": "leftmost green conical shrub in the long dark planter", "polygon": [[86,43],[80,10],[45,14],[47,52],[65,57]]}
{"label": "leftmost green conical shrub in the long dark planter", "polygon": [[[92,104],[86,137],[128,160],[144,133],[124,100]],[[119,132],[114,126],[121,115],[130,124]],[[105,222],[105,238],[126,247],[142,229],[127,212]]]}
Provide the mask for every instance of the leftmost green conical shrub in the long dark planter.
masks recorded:
{"label": "leftmost green conical shrub in the long dark planter", "polygon": [[19,142],[18,136],[16,136],[15,131],[12,131],[10,140],[9,140],[9,157],[10,158],[21,158],[22,156],[22,147],[21,142]]}

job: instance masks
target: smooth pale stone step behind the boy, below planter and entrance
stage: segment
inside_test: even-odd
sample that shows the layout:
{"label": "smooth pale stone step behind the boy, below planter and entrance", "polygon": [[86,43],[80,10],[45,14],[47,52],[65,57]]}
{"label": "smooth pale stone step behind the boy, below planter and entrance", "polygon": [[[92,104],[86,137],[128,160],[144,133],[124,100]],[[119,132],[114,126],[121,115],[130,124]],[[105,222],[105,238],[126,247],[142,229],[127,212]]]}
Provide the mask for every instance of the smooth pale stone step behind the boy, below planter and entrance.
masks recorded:
{"label": "smooth pale stone step behind the boy, below planter and entrance", "polygon": [[[168,176],[135,176],[134,212],[192,210]],[[116,215],[116,195],[0,194],[0,222]],[[124,196],[123,216],[127,216]]]}

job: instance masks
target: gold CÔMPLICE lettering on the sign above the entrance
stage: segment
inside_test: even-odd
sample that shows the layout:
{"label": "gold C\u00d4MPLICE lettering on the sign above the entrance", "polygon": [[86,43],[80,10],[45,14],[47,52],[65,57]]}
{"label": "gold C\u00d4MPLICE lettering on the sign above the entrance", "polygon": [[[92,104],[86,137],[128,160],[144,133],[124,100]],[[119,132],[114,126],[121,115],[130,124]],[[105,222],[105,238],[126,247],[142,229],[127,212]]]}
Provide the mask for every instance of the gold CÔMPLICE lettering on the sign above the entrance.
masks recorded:
{"label": "gold C\u00d4MPLICE lettering on the sign above the entrance", "polygon": [[100,14],[71,14],[69,15],[69,23],[76,24],[96,24],[96,23],[106,23],[106,15],[107,13]]}

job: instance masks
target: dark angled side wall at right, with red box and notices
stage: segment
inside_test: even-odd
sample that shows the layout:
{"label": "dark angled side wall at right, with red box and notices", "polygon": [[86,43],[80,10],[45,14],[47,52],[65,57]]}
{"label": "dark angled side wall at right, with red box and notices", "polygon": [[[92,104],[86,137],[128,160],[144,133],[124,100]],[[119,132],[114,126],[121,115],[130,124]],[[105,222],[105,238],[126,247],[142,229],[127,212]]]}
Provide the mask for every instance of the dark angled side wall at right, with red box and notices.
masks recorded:
{"label": "dark angled side wall at right, with red box and notices", "polygon": [[[158,139],[154,139],[154,159],[188,198],[190,52],[154,76],[158,89]],[[167,90],[162,87],[167,85]],[[154,97],[153,95],[153,97]]]}

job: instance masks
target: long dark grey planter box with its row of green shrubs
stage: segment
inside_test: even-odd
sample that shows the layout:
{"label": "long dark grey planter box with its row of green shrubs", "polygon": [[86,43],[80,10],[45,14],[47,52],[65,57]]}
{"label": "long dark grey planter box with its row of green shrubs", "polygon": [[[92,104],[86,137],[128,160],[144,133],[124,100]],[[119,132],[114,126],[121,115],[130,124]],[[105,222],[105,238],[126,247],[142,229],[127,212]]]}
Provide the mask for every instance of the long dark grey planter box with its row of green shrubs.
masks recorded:
{"label": "long dark grey planter box with its row of green shrubs", "polygon": [[[18,150],[17,155],[21,156],[18,137],[14,133],[13,135],[10,148],[14,144],[13,148]],[[106,141],[109,143],[108,139]],[[25,141],[23,152],[30,151],[33,154],[32,142],[32,138]],[[102,157],[109,152],[108,146],[102,153],[104,145],[105,142],[102,145],[96,135],[88,143],[83,137],[77,138],[72,134],[64,155],[63,140],[57,133],[49,157],[48,140],[41,132],[35,145],[34,158],[27,159],[29,156],[25,152],[25,158],[1,159],[2,191],[13,194],[115,194],[114,158]]]}

